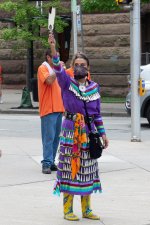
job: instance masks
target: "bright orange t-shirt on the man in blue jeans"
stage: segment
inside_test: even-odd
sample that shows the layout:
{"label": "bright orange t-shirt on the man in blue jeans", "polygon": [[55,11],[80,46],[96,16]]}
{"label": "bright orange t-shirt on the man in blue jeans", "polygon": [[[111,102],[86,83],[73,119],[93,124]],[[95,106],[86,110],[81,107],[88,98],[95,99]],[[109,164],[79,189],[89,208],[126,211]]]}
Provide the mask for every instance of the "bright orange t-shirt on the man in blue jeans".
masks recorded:
{"label": "bright orange t-shirt on the man in blue jeans", "polygon": [[45,65],[39,66],[38,97],[39,113],[41,117],[49,113],[64,112],[61,89],[57,79],[55,79],[55,81],[50,85],[45,82],[49,75],[49,71]]}

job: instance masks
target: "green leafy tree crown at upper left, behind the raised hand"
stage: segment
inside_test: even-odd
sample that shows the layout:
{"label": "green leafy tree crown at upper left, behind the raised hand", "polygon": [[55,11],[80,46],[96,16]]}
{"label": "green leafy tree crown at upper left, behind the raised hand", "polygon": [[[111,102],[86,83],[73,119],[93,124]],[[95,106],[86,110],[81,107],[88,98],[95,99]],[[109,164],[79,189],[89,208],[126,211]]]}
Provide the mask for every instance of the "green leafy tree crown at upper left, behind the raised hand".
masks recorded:
{"label": "green leafy tree crown at upper left, behind the raised hand", "polygon": [[[49,7],[55,7],[59,13],[66,12],[60,3],[60,0],[53,0],[50,3],[43,4],[43,14],[39,8],[35,5],[36,2],[30,2],[28,0],[5,0],[0,3],[0,9],[6,12],[10,12],[12,20],[15,24],[13,28],[5,28],[2,30],[2,38],[4,40],[23,40],[28,45],[30,41],[38,40],[45,46],[47,45],[47,36],[39,36],[39,28],[48,27],[48,9]],[[64,27],[67,24],[61,20],[59,16],[55,19],[55,31],[57,33],[63,32]]]}

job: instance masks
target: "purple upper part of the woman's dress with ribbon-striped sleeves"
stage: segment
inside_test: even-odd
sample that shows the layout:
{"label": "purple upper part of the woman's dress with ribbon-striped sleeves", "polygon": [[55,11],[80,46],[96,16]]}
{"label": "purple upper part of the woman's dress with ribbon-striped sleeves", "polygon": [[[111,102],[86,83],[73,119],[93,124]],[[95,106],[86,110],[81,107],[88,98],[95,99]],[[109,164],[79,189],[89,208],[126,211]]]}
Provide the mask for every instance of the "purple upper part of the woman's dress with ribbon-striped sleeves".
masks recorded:
{"label": "purple upper part of the woman's dress with ribbon-striped sleeves", "polygon": [[[100,115],[99,85],[94,81],[88,81],[84,92],[80,92],[78,82],[66,74],[57,56],[53,57],[53,65],[61,87],[65,110],[71,113],[81,113],[85,116],[86,112],[83,100],[86,101],[88,114],[89,116],[94,116],[94,124],[98,132],[100,135],[105,134]],[[80,93],[82,93],[82,96]]]}

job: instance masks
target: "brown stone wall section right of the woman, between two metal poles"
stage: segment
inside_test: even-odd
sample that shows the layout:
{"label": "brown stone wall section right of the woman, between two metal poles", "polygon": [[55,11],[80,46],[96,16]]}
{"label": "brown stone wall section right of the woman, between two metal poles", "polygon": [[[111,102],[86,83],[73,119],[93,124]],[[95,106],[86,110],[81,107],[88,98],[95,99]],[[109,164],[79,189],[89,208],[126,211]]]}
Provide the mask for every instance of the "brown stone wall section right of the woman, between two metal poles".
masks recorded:
{"label": "brown stone wall section right of the woman, between two metal poles", "polygon": [[83,16],[85,53],[103,95],[125,96],[130,72],[129,13]]}

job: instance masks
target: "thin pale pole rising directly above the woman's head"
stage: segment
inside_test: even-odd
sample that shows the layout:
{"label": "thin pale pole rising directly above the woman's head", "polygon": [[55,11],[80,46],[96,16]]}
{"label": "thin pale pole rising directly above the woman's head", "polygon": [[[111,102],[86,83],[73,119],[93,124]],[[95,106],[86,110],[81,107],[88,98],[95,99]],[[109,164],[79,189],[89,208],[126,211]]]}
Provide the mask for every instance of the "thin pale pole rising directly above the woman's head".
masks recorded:
{"label": "thin pale pole rising directly above the woman's head", "polygon": [[78,51],[77,40],[77,1],[71,0],[71,12],[72,12],[72,35],[73,35],[73,54]]}

